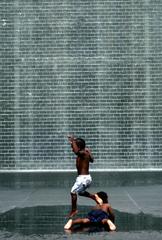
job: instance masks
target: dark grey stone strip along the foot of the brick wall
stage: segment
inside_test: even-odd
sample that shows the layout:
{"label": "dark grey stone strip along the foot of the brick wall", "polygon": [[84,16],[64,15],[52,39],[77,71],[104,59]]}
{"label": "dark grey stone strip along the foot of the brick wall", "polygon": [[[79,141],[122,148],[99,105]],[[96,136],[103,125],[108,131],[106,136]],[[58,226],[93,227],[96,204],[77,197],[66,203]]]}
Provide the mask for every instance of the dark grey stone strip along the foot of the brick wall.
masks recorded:
{"label": "dark grey stone strip along the foot of the brick wall", "polygon": [[[92,186],[140,186],[162,184],[161,171],[92,172]],[[0,173],[0,186],[70,187],[75,172],[4,172]]]}

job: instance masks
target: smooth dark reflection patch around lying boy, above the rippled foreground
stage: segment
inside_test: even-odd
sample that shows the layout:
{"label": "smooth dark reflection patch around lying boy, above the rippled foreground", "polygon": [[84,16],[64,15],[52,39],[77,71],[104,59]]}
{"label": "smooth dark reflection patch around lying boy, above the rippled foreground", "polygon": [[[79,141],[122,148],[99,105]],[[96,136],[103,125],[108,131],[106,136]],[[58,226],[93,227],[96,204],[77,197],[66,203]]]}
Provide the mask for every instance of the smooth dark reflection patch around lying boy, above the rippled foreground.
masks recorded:
{"label": "smooth dark reflection patch around lying boy, above the rippled foreground", "polygon": [[[67,221],[66,214],[70,206],[36,206],[15,208],[0,215],[0,231],[12,233],[30,234],[64,234],[64,224]],[[79,206],[80,213],[77,217],[85,217],[91,207]],[[131,214],[114,210],[116,226],[119,232],[134,231],[161,231],[162,218],[149,214]],[[105,229],[91,226],[73,230],[76,232],[102,232]]]}

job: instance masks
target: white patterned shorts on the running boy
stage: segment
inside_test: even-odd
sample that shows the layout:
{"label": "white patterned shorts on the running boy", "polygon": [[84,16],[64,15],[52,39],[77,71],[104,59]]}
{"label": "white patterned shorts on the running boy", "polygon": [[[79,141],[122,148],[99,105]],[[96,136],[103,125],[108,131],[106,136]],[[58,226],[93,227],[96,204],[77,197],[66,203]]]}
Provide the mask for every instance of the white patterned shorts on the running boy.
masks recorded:
{"label": "white patterned shorts on the running boy", "polygon": [[71,193],[80,193],[84,192],[91,184],[92,178],[91,175],[79,175],[76,178],[76,181],[71,189]]}

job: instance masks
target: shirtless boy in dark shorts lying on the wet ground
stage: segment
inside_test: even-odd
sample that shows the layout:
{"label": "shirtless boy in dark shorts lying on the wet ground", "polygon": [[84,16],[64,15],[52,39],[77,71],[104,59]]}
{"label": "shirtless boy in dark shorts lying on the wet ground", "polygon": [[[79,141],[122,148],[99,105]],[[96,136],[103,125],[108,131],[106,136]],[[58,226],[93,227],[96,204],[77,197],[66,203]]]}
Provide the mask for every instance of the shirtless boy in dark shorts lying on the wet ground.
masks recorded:
{"label": "shirtless boy in dark shorts lying on the wet ground", "polygon": [[75,224],[102,224],[108,226],[109,230],[115,231],[114,224],[115,216],[111,205],[108,203],[108,196],[105,192],[98,192],[96,194],[102,199],[102,204],[97,204],[86,216],[86,218],[77,218],[75,220],[69,219],[65,224],[64,229],[69,230]]}

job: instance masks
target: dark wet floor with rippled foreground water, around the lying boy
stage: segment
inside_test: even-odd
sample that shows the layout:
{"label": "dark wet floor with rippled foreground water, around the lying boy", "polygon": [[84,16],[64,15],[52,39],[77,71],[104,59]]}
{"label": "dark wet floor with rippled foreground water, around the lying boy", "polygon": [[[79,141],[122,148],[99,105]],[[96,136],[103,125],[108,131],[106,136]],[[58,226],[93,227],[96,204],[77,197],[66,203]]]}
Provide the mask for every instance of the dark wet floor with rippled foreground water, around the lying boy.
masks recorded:
{"label": "dark wet floor with rippled foreground water, around the lying boy", "polygon": [[[80,206],[77,217],[85,217],[91,209]],[[64,231],[70,206],[36,206],[15,208],[0,215],[0,239],[162,239],[162,218],[114,210],[116,232],[96,226],[76,226]]]}

